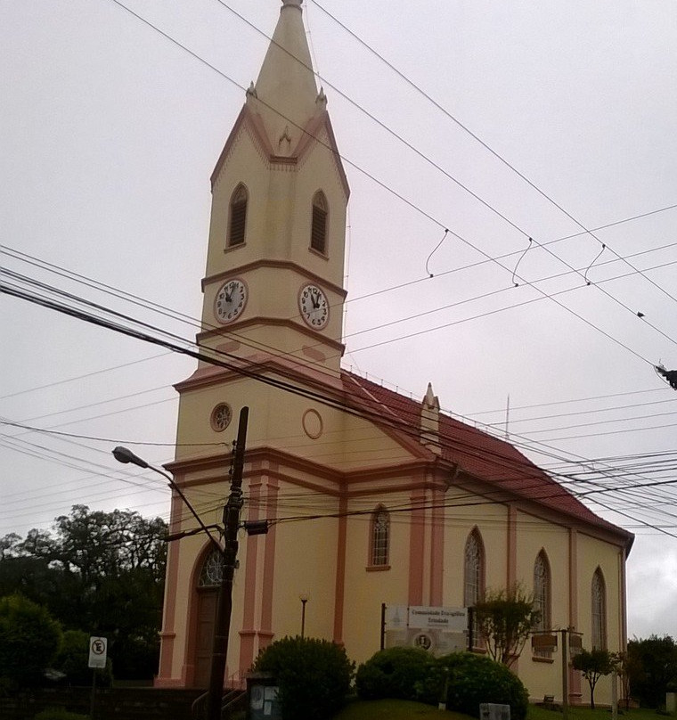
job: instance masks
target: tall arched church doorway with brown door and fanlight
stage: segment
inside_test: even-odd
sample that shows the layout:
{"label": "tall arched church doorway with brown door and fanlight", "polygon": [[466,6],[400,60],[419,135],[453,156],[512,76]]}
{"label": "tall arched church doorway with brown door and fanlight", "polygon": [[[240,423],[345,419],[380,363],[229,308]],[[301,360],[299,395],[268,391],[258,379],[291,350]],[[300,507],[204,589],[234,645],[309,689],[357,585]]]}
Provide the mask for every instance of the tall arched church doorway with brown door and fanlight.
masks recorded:
{"label": "tall arched church doorway with brown door and fanlight", "polygon": [[195,623],[195,687],[206,688],[209,685],[212,650],[214,646],[214,626],[216,623],[216,601],[218,588],[224,575],[224,558],[220,551],[213,548],[202,561],[197,593]]}

